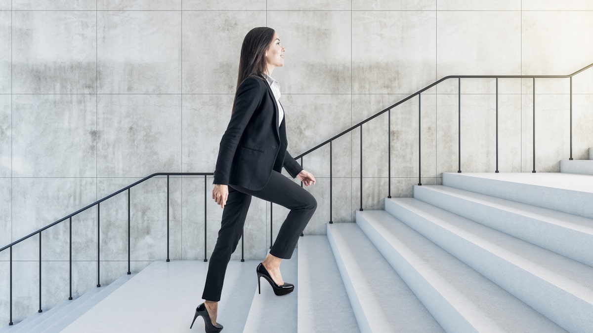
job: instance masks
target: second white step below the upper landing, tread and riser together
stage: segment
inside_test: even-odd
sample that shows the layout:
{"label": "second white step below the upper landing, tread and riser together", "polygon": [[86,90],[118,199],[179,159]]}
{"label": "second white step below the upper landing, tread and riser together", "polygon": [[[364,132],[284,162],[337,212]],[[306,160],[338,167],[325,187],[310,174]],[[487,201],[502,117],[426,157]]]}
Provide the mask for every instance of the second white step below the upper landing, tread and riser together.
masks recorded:
{"label": "second white step below the upper landing, tread and riser together", "polygon": [[593,332],[593,267],[415,198],[385,210],[556,324]]}

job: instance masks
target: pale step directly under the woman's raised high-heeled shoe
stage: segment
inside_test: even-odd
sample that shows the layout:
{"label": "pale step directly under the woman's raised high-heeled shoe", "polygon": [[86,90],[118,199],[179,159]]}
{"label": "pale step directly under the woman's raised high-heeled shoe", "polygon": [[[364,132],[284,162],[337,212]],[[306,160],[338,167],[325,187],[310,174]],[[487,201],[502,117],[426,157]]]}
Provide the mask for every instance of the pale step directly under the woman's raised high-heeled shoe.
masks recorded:
{"label": "pale step directly under the woman's raised high-heeled shoe", "polygon": [[[259,264],[259,262],[257,262]],[[253,302],[249,308],[249,314],[245,323],[244,333],[297,333],[297,301],[298,301],[298,248],[292,254],[290,260],[282,260],[280,272],[282,279],[295,285],[292,293],[276,296],[272,286],[262,278],[262,294],[257,289],[257,264],[253,265],[254,289],[251,289]],[[249,303],[245,305],[248,306]],[[241,331],[230,331],[241,332]]]}

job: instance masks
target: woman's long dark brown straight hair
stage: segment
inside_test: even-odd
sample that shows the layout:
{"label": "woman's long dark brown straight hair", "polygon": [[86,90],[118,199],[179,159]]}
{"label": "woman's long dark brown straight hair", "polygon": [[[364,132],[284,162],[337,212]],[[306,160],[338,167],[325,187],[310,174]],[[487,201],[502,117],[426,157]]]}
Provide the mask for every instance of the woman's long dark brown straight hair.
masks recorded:
{"label": "woman's long dark brown straight hair", "polygon": [[[239,75],[237,88],[235,88],[235,100],[239,85],[249,76],[261,76],[266,72],[266,50],[272,43],[276,31],[268,27],[251,29],[243,39],[241,46],[241,58],[239,60]],[[235,111],[235,103],[232,103],[232,111]]]}

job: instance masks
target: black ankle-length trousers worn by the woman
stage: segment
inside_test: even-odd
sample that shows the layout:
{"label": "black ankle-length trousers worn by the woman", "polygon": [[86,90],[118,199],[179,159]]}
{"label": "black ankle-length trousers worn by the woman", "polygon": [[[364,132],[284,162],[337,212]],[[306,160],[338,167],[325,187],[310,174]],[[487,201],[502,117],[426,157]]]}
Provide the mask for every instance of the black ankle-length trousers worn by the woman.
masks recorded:
{"label": "black ankle-length trousers worn by the woman", "polygon": [[304,188],[277,171],[272,171],[270,180],[259,191],[251,191],[237,185],[229,185],[227,204],[222,212],[221,229],[208,264],[208,274],[202,299],[218,302],[227,272],[228,261],[235,252],[251,196],[271,201],[291,210],[282,223],[270,254],[290,259],[298,238],[317,208],[317,201]]}

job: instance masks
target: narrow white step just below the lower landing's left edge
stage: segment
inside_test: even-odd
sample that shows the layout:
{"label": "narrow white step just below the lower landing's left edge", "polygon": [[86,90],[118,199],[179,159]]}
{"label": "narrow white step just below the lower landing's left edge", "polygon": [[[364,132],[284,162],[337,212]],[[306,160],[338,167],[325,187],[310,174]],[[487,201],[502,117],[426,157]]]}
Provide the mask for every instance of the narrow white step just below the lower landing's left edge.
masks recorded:
{"label": "narrow white step just below the lower landing's left edge", "polygon": [[[100,289],[98,293],[94,293],[93,296],[89,297],[84,302],[81,302],[79,305],[76,305],[76,307],[73,307],[72,309],[64,309],[60,311],[60,313],[56,313],[53,318],[44,319],[43,322],[40,322],[34,326],[32,330],[44,333],[62,332],[62,329],[74,322],[80,316],[84,315],[84,313],[100,303],[107,296],[115,292],[119,287],[135,276],[136,274],[125,274],[124,276],[113,281],[113,283],[110,283],[108,286],[97,288]],[[105,318],[103,320],[105,320]]]}

